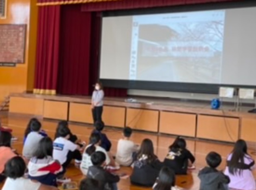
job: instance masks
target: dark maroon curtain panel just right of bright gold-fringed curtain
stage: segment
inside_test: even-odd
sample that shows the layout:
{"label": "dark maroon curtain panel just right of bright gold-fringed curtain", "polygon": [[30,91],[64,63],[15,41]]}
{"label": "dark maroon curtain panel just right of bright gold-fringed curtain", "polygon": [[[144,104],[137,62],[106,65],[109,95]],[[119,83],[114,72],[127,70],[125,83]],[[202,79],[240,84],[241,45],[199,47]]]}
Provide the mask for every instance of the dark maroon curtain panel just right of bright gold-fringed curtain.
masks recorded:
{"label": "dark maroon curtain panel just right of bright gold-fringed curtain", "polygon": [[91,13],[81,5],[61,7],[58,93],[89,95]]}

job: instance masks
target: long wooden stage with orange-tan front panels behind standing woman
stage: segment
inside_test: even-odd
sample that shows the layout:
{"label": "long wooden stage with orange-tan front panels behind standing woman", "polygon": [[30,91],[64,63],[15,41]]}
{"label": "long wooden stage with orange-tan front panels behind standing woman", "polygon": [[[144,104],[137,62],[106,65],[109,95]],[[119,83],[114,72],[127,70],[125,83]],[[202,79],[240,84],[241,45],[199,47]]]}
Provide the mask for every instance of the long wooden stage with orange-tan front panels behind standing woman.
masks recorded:
{"label": "long wooden stage with orange-tan front panels behind standing woman", "polygon": [[[13,93],[9,114],[93,124],[90,101],[90,97],[83,96]],[[127,102],[124,98],[105,98],[103,121],[110,127],[127,126],[152,133],[256,142],[256,114],[232,109],[224,106],[212,110],[210,103],[173,99],[136,98],[136,102]]]}

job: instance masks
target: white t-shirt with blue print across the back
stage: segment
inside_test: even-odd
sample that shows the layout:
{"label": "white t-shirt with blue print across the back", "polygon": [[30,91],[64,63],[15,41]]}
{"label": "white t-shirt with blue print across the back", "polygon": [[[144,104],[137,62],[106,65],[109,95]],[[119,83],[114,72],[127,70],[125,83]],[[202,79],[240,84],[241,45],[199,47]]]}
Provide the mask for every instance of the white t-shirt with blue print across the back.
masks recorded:
{"label": "white t-shirt with blue print across the back", "polygon": [[53,158],[58,160],[60,164],[64,164],[67,161],[67,155],[69,151],[73,152],[77,148],[77,144],[65,139],[63,137],[58,137],[53,143]]}

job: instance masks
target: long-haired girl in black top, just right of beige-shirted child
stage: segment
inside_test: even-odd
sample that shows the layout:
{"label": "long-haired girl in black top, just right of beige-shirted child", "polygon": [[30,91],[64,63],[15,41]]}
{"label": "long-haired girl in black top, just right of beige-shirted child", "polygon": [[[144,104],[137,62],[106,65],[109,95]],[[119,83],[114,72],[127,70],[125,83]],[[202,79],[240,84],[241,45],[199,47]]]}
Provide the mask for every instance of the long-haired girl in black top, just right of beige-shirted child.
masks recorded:
{"label": "long-haired girl in black top, just right of beige-shirted child", "polygon": [[144,139],[133,163],[131,183],[152,187],[162,166],[163,164],[154,154],[153,142],[150,139]]}

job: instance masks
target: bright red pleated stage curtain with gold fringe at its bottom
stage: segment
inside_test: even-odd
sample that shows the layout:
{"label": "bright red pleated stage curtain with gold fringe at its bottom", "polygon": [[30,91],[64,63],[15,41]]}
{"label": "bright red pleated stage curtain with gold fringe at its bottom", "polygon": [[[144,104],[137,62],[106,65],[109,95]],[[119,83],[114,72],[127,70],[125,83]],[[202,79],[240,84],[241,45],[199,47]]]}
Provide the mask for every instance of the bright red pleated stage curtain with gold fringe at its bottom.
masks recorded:
{"label": "bright red pleated stage curtain with gold fringe at its bottom", "polygon": [[60,6],[39,7],[34,93],[56,94],[59,30]]}

